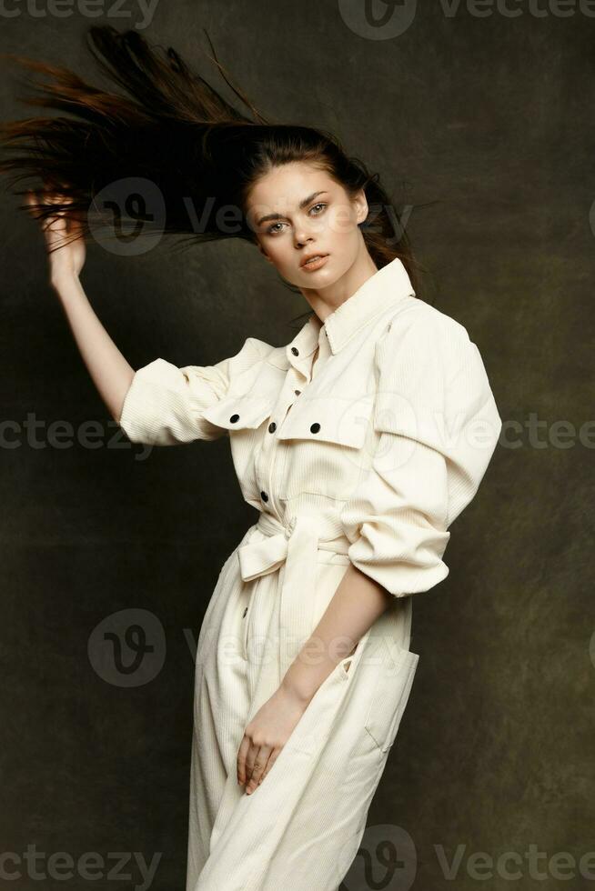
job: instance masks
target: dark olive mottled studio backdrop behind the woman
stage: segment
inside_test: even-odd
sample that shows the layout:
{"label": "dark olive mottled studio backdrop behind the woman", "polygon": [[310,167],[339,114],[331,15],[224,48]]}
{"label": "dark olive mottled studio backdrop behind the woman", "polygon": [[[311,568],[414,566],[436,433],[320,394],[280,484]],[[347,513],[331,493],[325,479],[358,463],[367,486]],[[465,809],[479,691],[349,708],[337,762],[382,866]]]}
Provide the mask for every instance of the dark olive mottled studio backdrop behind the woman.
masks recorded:
{"label": "dark olive mottled studio backdrop behind the woman", "polygon": [[[15,2],[0,50],[96,78],[87,27],[136,26],[225,92],[207,27],[265,115],[334,129],[412,207],[422,296],[479,345],[504,426],[451,527],[449,577],[416,596],[419,670],[370,809],[365,884],[344,888],[592,887],[595,18],[578,2],[375,0],[401,17],[382,35],[364,6],[106,0],[91,18],[75,0]],[[5,72],[2,117],[30,114]],[[149,456],[112,438],[17,204],[5,193],[0,215],[0,885],[177,891],[193,646],[256,513],[225,438]],[[83,285],[132,365],[207,365],[248,335],[293,336],[308,305],[256,250],[171,244],[88,247]],[[126,628],[121,662],[116,645],[113,665],[98,660],[101,636]]]}

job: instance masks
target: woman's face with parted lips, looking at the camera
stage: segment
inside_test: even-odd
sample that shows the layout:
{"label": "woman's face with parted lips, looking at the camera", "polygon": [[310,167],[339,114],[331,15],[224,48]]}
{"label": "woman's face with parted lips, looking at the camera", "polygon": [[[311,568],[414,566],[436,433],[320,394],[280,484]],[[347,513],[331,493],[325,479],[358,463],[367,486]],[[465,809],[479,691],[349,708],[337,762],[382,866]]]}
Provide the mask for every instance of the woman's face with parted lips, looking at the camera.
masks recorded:
{"label": "woman's face with parted lips, looking at the camera", "polygon": [[[350,199],[328,173],[303,161],[261,176],[247,201],[260,252],[287,282],[304,289],[328,287],[346,274],[364,245],[358,223],[367,215],[363,189]],[[326,255],[319,268],[303,265],[316,254]]]}

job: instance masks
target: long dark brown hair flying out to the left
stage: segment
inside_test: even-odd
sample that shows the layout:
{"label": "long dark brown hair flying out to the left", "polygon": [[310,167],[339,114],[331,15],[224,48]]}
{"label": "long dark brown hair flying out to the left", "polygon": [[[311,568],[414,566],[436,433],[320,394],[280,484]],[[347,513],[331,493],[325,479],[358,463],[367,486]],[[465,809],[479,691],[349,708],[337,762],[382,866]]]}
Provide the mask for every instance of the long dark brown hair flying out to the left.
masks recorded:
{"label": "long dark brown hair flying out to the left", "polygon": [[[0,124],[0,148],[9,153],[0,159],[0,173],[8,185],[27,177],[43,184],[35,188],[42,201],[20,208],[41,220],[72,215],[83,237],[91,227],[95,236],[102,227],[114,231],[116,209],[118,226],[140,222],[144,234],[180,235],[182,245],[222,238],[256,244],[245,213],[249,190],[273,166],[305,161],[349,196],[364,189],[369,213],[360,226],[369,254],[378,269],[399,257],[419,295],[419,264],[379,175],[347,155],[325,130],[267,121],[231,83],[210,38],[215,58],[208,57],[249,115],[230,105],[171,46],[157,53],[136,31],[118,32],[112,25],[94,25],[86,38],[100,70],[123,94],[89,85],[63,66],[2,54],[49,78],[45,84],[27,80],[38,93],[19,96],[23,102],[63,113]],[[15,146],[19,155],[10,154]],[[106,200],[118,188],[128,194]],[[52,205],[43,203],[45,195],[53,196]],[[152,195],[159,195],[158,212]]]}

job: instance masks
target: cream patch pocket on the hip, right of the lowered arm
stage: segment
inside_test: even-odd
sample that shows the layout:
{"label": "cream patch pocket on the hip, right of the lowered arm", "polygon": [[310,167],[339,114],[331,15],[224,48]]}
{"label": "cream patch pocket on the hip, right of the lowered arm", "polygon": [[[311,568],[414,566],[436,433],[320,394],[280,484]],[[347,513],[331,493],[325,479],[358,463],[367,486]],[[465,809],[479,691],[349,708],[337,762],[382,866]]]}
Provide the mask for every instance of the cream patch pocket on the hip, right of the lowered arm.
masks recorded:
{"label": "cream patch pocket on the hip, right of the lowered arm", "polygon": [[397,736],[418,663],[417,653],[399,649],[397,656],[389,655],[378,668],[365,727],[383,755]]}

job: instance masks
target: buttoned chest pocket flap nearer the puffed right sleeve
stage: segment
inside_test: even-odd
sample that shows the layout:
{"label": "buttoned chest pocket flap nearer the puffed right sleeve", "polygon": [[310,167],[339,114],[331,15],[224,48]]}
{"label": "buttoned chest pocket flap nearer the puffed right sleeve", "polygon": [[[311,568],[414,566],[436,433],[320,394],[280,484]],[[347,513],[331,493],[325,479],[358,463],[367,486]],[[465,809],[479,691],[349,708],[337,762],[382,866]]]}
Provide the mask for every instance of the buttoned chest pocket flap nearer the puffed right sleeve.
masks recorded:
{"label": "buttoned chest pocket flap nearer the puffed right sleeve", "polygon": [[277,438],[322,440],[361,448],[366,442],[372,407],[371,396],[304,395],[287,412]]}

